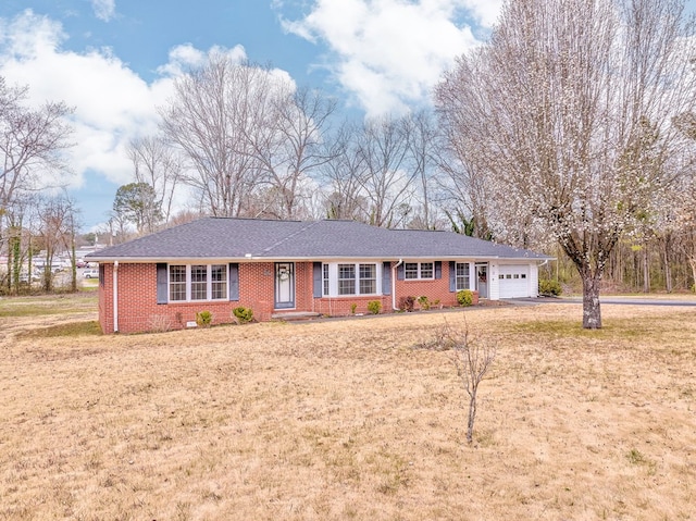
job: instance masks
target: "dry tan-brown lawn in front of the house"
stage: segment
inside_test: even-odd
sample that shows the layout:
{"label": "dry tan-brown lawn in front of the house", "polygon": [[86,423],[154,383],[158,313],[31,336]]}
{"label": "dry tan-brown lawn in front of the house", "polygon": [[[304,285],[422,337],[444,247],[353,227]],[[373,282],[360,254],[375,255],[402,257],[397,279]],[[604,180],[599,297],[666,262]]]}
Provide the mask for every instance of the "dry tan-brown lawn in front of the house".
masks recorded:
{"label": "dry tan-brown lawn in front of the house", "polygon": [[498,346],[469,446],[451,351],[414,348],[460,311],[99,336],[94,306],[0,300],[0,520],[696,519],[696,308],[465,311]]}

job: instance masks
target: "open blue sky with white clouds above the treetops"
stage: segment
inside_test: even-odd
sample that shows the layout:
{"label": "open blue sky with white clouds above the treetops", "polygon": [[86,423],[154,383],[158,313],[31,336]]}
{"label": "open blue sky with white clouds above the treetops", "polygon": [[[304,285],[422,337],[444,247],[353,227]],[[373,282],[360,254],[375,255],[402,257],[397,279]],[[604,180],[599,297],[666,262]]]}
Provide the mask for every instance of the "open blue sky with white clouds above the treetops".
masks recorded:
{"label": "open blue sky with white clouds above the treetops", "polygon": [[405,112],[484,39],[502,0],[2,0],[0,75],[75,107],[70,193],[89,230],[129,183],[173,82],[213,48],[283,70],[351,114]]}

